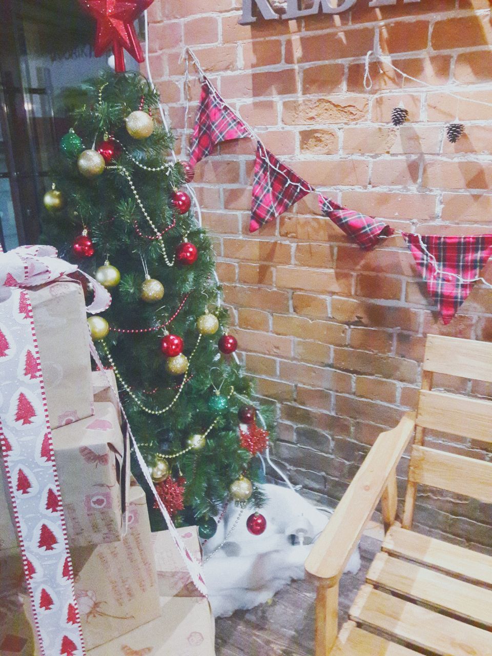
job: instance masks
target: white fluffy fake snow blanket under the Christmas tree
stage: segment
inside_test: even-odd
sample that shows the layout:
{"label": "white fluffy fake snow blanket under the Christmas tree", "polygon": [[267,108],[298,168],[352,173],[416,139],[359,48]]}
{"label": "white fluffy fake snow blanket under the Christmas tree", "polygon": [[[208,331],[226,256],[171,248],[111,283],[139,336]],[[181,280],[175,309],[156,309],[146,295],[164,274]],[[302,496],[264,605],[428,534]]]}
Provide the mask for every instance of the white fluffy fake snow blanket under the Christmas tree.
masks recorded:
{"label": "white fluffy fake snow blanket under the Christmas tree", "polygon": [[[329,520],[329,514],[297,492],[280,485],[264,487],[268,497],[268,504],[260,510],[266,518],[264,533],[249,533],[246,520],[251,512],[245,510],[228,541],[205,562],[205,582],[215,617],[264,604],[293,579],[303,579],[312,543]],[[230,504],[216,534],[203,547],[204,559],[224,541],[239,512]],[[356,573],[359,568],[356,549],[345,571]]]}

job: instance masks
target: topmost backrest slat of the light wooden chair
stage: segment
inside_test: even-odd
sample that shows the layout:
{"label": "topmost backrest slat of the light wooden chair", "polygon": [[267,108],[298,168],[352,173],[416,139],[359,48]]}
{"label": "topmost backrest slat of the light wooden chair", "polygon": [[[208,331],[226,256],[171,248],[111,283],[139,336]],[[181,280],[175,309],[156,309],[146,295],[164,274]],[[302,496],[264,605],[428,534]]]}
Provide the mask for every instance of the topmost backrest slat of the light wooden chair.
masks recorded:
{"label": "topmost backrest slat of the light wooden chair", "polygon": [[492,345],[459,337],[428,335],[424,371],[492,382]]}

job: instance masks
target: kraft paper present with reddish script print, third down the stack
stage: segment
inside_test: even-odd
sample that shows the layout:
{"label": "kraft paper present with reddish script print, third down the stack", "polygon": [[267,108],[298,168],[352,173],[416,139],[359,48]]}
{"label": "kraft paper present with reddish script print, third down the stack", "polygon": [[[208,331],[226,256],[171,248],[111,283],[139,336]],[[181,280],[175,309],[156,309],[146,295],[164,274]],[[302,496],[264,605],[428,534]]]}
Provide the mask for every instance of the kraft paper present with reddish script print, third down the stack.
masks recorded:
{"label": "kraft paper present with reddish script print, third down the stack", "polygon": [[[129,531],[121,542],[71,550],[75,597],[88,650],[111,644],[142,624],[151,626],[149,621],[161,613],[147,504],[138,486],[129,491],[128,519]],[[0,554],[1,656],[39,656],[23,579],[20,558],[2,560]]]}

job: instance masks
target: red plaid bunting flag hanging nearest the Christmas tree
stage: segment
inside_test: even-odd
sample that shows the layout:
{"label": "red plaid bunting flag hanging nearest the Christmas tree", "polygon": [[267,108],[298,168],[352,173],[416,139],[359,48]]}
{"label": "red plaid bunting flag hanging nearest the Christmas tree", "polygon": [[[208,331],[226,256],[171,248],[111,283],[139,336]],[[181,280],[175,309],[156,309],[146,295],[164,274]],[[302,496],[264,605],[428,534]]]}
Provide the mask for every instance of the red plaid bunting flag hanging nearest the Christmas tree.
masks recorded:
{"label": "red plaid bunting flag hanging nearest the Christmas tree", "polygon": [[247,127],[226,106],[207,78],[203,78],[192,136],[190,164],[195,166],[200,159],[211,154],[214,146],[221,141],[242,139],[245,136],[250,136]]}

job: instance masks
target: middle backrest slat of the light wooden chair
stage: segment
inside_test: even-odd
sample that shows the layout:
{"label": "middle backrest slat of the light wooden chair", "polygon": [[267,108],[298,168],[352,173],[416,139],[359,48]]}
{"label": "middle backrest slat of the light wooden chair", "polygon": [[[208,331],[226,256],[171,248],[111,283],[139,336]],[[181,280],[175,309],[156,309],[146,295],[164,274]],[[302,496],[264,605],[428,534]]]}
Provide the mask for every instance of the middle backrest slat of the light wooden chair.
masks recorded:
{"label": "middle backrest slat of the light wooden chair", "polygon": [[417,426],[492,442],[492,401],[420,390]]}

